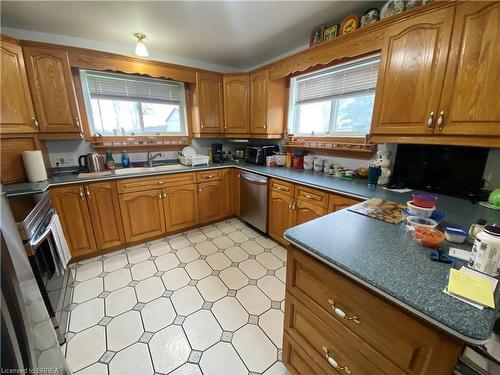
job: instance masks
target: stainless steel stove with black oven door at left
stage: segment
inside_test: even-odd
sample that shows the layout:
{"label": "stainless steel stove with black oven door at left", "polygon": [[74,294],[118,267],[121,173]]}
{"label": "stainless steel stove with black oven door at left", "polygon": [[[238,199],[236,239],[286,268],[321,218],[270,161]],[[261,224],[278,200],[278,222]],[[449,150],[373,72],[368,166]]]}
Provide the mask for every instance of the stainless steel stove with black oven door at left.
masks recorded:
{"label": "stainless steel stove with black oven door at left", "polygon": [[51,247],[54,239],[48,224],[55,210],[48,192],[13,197],[10,199],[17,229],[31,264],[40,294],[60,344],[68,331],[69,311],[73,293],[73,275],[56,275]]}

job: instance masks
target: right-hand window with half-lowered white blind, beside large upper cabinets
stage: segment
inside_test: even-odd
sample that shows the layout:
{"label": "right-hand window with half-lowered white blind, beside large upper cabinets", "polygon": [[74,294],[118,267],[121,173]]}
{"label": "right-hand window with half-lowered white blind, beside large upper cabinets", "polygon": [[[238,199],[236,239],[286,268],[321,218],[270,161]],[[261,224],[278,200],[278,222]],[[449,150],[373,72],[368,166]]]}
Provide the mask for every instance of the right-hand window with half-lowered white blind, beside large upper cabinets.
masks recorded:
{"label": "right-hand window with half-lowered white blind, beside large upper cabinets", "polygon": [[370,131],[380,57],[292,78],[290,133],[361,137]]}

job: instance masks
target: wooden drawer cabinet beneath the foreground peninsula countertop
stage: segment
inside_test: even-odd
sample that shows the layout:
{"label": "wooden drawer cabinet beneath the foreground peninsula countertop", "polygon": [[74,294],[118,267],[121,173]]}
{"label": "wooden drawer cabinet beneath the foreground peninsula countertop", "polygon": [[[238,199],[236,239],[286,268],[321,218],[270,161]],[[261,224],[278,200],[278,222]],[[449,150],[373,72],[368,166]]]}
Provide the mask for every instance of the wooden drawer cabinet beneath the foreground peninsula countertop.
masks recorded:
{"label": "wooden drawer cabinet beneath the foreground peninsula countertop", "polygon": [[[340,318],[334,307],[351,319]],[[300,372],[286,352],[287,336],[320,368],[311,374],[337,374],[328,358],[353,374],[451,374],[463,349],[457,339],[293,246],[284,326],[283,358],[292,373]]]}

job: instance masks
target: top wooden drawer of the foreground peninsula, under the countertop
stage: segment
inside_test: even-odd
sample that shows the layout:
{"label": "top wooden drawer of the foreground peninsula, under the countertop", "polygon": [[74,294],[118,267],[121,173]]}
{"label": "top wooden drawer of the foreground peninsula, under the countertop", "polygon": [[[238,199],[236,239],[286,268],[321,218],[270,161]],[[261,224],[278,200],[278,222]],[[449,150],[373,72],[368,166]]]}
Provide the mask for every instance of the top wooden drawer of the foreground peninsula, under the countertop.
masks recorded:
{"label": "top wooden drawer of the foreground peninsula, under the countertop", "polygon": [[[460,354],[462,344],[458,341],[421,324],[294,247],[288,251],[286,284],[287,291],[300,301],[315,311],[323,309],[405,372],[450,373]],[[339,317],[333,306],[346,318],[355,316],[359,323]],[[453,357],[453,363],[444,360]]]}

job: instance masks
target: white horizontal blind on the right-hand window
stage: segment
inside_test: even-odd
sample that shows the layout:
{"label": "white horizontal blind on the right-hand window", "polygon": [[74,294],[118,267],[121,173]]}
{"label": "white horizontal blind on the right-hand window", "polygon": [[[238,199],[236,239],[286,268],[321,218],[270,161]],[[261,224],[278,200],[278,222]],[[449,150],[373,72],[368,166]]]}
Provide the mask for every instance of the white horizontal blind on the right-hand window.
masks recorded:
{"label": "white horizontal blind on the right-hand window", "polygon": [[342,64],[296,78],[295,103],[362,94],[377,85],[380,57]]}

